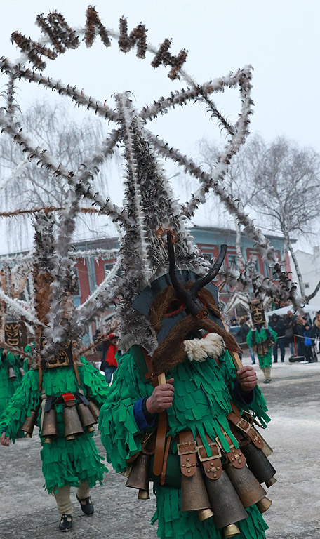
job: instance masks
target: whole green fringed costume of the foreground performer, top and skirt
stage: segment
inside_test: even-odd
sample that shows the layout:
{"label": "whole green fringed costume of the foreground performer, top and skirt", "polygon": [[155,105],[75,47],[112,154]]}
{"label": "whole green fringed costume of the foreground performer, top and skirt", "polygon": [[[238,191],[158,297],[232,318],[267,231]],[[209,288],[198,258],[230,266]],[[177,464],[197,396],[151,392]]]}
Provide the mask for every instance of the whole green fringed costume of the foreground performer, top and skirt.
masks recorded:
{"label": "whole green fringed costume of the foreground performer, top and skirt", "polygon": [[[138,346],[131,347],[131,350],[120,358],[107,403],[100,411],[102,443],[107,450],[107,460],[112,463],[116,472],[124,472],[127,467],[126,459],[141,450],[142,432],[138,430],[135,422],[133,405],[135,401],[149,397],[153,391],[151,383],[145,381],[140,368],[143,361],[142,350]],[[175,366],[171,373],[167,373],[167,378],[173,377],[175,380],[173,406],[167,410],[167,436],[171,434],[175,437],[175,434],[182,430],[191,430],[194,436],[200,435],[208,455],[211,453],[209,453],[210,448],[206,442],[205,432],[211,439],[218,437],[225,450],[230,451],[219,425],[225,429],[234,446],[239,447],[226,419],[227,414],[232,411],[230,401],[236,380],[236,370],[228,352],[224,352],[219,361],[220,366],[211,357],[202,362],[185,359]],[[243,403],[235,399],[233,401],[240,410],[247,409]],[[258,387],[255,387],[250,409],[262,423],[269,421],[265,400]],[[177,453],[175,441],[171,444],[171,451]],[[167,477],[168,470],[169,463]],[[156,493],[156,513],[152,524],[158,520],[158,537],[166,539],[223,538],[223,529],[217,530],[212,519],[201,522],[196,511],[181,512],[180,488],[154,484],[154,492]],[[255,505],[249,507],[247,512],[248,518],[238,523],[241,533],[236,536],[236,539],[265,538],[267,525],[257,507]]]}

